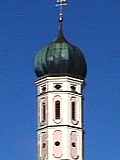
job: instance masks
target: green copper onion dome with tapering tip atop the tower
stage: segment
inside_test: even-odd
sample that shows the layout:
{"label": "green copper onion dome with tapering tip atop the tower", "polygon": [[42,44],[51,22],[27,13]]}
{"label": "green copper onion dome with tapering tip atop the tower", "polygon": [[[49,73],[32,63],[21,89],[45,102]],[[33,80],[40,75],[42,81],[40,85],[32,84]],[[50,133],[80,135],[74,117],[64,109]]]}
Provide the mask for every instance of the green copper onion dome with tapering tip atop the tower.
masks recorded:
{"label": "green copper onion dome with tapering tip atop the tower", "polygon": [[62,24],[57,38],[35,56],[34,71],[38,78],[46,75],[85,78],[87,73],[85,58],[78,47],[64,38]]}

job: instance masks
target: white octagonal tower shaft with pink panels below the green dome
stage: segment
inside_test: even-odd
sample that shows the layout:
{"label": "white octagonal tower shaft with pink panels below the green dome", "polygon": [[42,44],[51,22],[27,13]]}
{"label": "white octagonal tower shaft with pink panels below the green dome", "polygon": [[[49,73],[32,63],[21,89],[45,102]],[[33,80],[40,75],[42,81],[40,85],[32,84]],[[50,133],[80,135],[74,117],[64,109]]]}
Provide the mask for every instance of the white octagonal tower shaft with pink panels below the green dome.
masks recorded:
{"label": "white octagonal tower shaft with pink panels below the green dome", "polygon": [[38,160],[84,160],[83,80],[46,77],[35,84]]}

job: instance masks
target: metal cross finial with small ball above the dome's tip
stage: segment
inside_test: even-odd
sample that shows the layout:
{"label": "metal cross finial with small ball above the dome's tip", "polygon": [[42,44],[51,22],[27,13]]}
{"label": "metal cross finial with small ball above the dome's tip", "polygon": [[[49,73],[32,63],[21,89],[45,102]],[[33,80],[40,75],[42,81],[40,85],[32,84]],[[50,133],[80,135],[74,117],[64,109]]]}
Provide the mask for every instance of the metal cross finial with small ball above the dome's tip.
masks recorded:
{"label": "metal cross finial with small ball above the dome's tip", "polygon": [[67,5],[67,0],[57,0],[56,7],[60,7],[59,21],[63,21],[63,7]]}

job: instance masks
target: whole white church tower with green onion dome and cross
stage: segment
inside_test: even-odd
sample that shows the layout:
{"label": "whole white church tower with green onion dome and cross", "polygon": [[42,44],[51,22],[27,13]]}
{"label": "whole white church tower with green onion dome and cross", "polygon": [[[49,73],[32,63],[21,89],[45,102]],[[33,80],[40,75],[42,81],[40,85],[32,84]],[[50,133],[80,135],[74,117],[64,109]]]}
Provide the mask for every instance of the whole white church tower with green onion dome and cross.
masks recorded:
{"label": "whole white church tower with green onion dome and cross", "polygon": [[84,160],[83,88],[87,73],[81,50],[63,34],[60,6],[56,39],[34,60],[37,76],[37,160]]}

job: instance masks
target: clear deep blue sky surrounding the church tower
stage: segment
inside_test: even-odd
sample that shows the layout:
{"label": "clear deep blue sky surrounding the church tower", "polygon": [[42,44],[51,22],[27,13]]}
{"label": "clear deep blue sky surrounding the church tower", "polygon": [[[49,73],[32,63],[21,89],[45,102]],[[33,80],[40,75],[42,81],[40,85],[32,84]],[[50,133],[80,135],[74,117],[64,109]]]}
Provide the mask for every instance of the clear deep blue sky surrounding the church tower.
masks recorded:
{"label": "clear deep blue sky surrounding the church tower", "polygon": [[[36,160],[33,59],[58,31],[55,0],[0,0],[0,160]],[[120,159],[120,1],[68,0],[64,33],[86,57],[85,160]]]}

